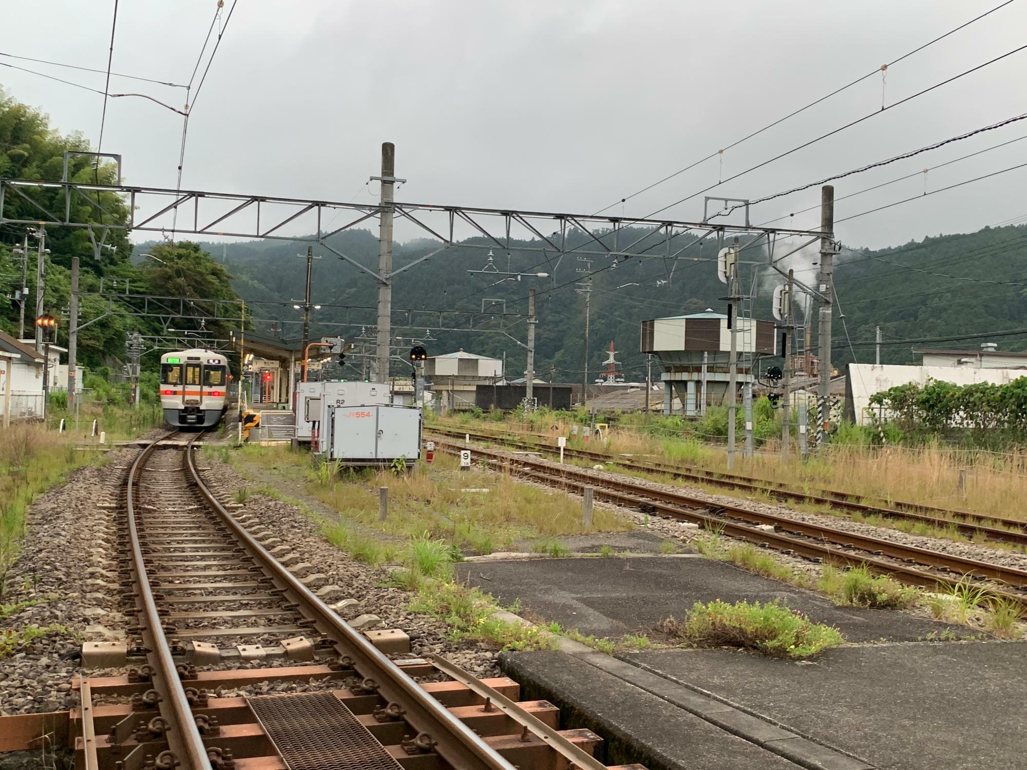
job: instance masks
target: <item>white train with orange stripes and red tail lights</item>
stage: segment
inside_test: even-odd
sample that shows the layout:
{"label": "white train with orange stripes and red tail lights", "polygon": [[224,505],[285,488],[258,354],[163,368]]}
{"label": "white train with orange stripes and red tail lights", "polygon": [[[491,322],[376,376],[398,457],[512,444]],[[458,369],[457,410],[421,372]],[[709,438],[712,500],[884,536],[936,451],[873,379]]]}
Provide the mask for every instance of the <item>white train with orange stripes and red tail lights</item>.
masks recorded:
{"label": "white train with orange stripes and red tail lights", "polygon": [[212,428],[225,416],[228,358],[202,348],[160,356],[160,407],[172,427]]}

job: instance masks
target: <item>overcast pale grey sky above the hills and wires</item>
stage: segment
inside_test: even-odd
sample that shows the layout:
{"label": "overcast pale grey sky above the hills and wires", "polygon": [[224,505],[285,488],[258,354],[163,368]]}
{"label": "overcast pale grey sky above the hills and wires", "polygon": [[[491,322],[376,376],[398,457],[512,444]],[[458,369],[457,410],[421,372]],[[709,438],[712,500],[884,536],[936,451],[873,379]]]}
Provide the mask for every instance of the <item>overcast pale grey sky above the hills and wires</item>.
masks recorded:
{"label": "overcast pale grey sky above the hills and wires", "polygon": [[[383,141],[401,200],[592,213],[1000,3],[954,0],[238,0],[189,123],[187,189],[371,200]],[[225,13],[232,0],[226,1]],[[215,0],[120,3],[115,72],[187,82]],[[4,53],[105,69],[113,0],[4,0]],[[16,33],[16,31],[22,31]],[[1018,0],[892,66],[884,104],[1024,43]],[[215,30],[217,34],[217,28]],[[104,87],[103,74],[16,62]],[[202,70],[201,70],[202,71]],[[708,194],[756,198],[1027,112],[1027,50]],[[96,144],[103,98],[0,67],[0,84]],[[184,91],[112,78],[181,107]],[[879,110],[879,75],[627,201],[643,216]],[[108,102],[104,149],[128,184],[174,187],[181,118]],[[842,196],[1027,136],[1027,121],[836,184]],[[1027,162],[1027,141],[927,175],[933,190]],[[1025,214],[1027,168],[837,228],[883,246]],[[922,175],[840,201],[838,219],[924,190]],[[754,208],[764,222],[811,189]],[[619,214],[621,205],[609,209]],[[663,216],[698,220],[702,196]],[[816,227],[813,210],[796,226]]]}

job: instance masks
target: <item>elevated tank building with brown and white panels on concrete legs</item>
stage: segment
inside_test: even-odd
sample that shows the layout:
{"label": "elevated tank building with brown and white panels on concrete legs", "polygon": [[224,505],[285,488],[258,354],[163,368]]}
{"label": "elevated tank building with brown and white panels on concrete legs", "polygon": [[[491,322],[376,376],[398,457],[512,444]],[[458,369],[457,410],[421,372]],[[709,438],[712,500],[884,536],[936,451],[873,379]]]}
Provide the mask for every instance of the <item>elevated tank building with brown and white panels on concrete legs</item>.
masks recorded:
{"label": "elevated tank building with brown and white panels on concrete legs", "polygon": [[[735,318],[737,324],[737,386],[753,379],[751,363],[776,354],[772,321]],[[642,352],[655,355],[663,367],[663,414],[671,414],[676,394],[684,414],[695,417],[702,402],[702,369],[706,360],[706,406],[726,403],[731,330],[727,316],[705,313],[675,315],[642,321]],[[673,390],[672,390],[673,389]]]}

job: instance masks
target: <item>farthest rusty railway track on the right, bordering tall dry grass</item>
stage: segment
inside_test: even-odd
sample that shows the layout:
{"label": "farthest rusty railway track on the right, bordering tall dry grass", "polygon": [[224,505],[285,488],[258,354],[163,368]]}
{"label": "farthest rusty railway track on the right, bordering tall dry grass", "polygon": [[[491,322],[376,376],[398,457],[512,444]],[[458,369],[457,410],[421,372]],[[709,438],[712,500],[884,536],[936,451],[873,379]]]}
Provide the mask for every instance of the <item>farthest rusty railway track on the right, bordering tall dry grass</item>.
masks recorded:
{"label": "farthest rusty railway track on the right, bordering tall dry grass", "polygon": [[[433,426],[433,433],[450,437],[470,436],[479,441],[492,441],[519,450],[531,450],[548,454],[559,454],[560,449],[544,442],[548,436],[537,433],[510,436],[504,433],[489,433],[483,431],[466,431],[458,428]],[[995,542],[1012,543],[1027,547],[1027,523],[1015,518],[987,516],[964,510],[940,508],[929,505],[918,505],[898,501],[861,501],[852,499],[851,495],[836,490],[815,490],[804,492],[776,482],[756,479],[734,473],[722,473],[702,468],[669,465],[659,462],[638,462],[633,459],[612,456],[604,452],[593,452],[581,449],[565,449],[564,455],[572,459],[589,462],[615,462],[618,468],[643,473],[661,473],[692,484],[703,484],[725,489],[739,490],[751,494],[767,495],[782,502],[801,502],[822,505],[834,510],[860,515],[883,516],[891,521],[904,521],[923,524],[936,528],[953,528],[969,537],[982,537]]]}

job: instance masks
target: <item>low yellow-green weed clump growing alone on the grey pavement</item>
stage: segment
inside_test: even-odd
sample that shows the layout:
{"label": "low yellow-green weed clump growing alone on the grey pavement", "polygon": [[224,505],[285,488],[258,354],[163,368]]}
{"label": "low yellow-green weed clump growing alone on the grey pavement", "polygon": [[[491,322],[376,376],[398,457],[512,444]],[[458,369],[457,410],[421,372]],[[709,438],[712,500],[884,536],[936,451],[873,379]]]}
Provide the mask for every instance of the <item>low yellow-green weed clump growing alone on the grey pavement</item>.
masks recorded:
{"label": "low yellow-green weed clump growing alone on the grey pavement", "polygon": [[696,602],[684,620],[668,618],[661,629],[694,647],[740,647],[772,657],[805,658],[844,641],[837,628],[776,602]]}

